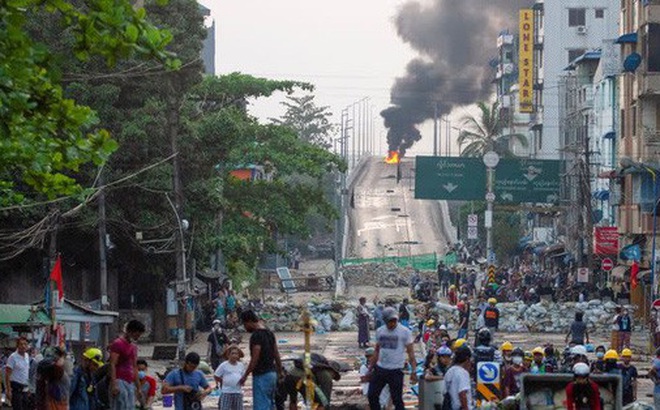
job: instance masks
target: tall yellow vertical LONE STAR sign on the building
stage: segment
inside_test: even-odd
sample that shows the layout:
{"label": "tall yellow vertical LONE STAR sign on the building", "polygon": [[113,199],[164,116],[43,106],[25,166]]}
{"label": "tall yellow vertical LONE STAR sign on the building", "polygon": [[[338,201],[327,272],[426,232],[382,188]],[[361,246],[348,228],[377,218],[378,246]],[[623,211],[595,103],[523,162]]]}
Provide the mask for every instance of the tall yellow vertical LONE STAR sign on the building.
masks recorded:
{"label": "tall yellow vertical LONE STAR sign on the building", "polygon": [[520,10],[518,86],[520,112],[534,112],[534,13]]}

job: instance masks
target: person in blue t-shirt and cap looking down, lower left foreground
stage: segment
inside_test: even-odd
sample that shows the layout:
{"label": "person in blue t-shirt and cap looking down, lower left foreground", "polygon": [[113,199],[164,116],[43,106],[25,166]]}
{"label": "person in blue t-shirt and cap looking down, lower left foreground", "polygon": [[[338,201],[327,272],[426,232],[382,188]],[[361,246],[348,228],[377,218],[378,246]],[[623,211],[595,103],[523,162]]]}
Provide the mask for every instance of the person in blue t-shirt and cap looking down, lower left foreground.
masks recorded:
{"label": "person in blue t-shirt and cap looking down, lower left foreground", "polygon": [[197,370],[200,357],[190,352],[184,359],[183,366],[169,372],[163,381],[163,394],[174,394],[174,410],[200,410],[202,401],[211,393],[204,373]]}

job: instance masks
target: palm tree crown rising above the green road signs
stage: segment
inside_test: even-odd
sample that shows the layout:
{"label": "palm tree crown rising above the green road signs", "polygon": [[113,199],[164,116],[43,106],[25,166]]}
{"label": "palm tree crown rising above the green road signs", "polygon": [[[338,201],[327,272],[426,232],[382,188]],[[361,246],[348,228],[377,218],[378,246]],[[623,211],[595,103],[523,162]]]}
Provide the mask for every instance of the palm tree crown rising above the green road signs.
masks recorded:
{"label": "palm tree crown rising above the green road signs", "polygon": [[467,144],[461,151],[463,157],[481,157],[488,151],[495,151],[502,157],[514,157],[509,148],[515,141],[527,148],[527,137],[523,134],[502,135],[502,118],[499,105],[494,102],[489,106],[485,102],[477,103],[480,115],[468,114],[461,120],[462,130],[458,136],[458,145]]}

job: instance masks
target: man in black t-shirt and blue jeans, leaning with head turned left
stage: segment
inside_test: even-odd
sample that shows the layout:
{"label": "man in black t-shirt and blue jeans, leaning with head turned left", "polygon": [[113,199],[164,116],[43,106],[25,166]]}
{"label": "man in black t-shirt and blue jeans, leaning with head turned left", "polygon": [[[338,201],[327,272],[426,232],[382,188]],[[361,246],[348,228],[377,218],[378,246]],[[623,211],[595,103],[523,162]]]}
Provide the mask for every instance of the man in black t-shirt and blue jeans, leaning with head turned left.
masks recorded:
{"label": "man in black t-shirt and blue jeans, leaning with head turned left", "polygon": [[271,410],[275,406],[277,380],[282,377],[282,361],[275,335],[251,310],[241,312],[241,321],[245,330],[252,335],[250,363],[239,384],[245,384],[248,375],[252,373],[253,409]]}

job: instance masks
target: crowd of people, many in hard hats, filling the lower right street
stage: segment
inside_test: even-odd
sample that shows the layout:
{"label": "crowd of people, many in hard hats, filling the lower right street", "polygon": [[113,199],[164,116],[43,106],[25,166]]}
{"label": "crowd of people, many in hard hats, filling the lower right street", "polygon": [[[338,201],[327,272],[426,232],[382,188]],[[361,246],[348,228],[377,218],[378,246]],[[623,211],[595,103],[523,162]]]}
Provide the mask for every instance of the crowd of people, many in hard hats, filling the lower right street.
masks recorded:
{"label": "crowd of people, many in hard hats, filling the lower right street", "polygon": [[[448,289],[450,290],[450,289]],[[590,354],[590,335],[583,321],[583,314],[576,312],[574,321],[566,335],[564,349],[557,349],[552,344],[537,346],[524,350],[522,346],[514,346],[504,340],[499,348],[493,344],[498,331],[500,312],[497,300],[493,297],[486,301],[478,300],[475,307],[476,325],[470,321],[470,302],[466,294],[460,295],[455,301],[459,315],[455,328],[455,337],[450,335],[447,323],[433,309],[421,309],[417,314],[417,336],[409,325],[410,308],[408,300],[404,299],[398,307],[390,303],[383,307],[376,301],[373,310],[376,334],[371,347],[368,327],[372,315],[366,307],[366,299],[360,299],[358,307],[358,343],[365,347],[366,364],[361,369],[363,375],[364,393],[369,397],[371,409],[380,409],[388,402],[395,409],[402,409],[401,385],[404,368],[411,372],[411,382],[415,381],[416,366],[414,363],[415,346],[425,353],[423,369],[419,370],[421,377],[428,382],[439,382],[444,392],[445,406],[438,404],[437,408],[471,409],[473,408],[473,388],[476,368],[480,362],[498,362],[501,374],[501,396],[504,399],[517,395],[521,390],[521,376],[525,373],[572,373],[573,381],[567,386],[567,408],[584,408],[578,404],[599,402],[598,389],[590,379],[593,374],[619,375],[622,381],[623,404],[630,404],[637,399],[638,371],[631,364],[633,352],[630,349],[630,329],[632,319],[626,309],[617,310],[613,318],[612,345],[597,346]],[[423,305],[427,306],[427,305]],[[428,306],[433,306],[429,304]],[[405,322],[404,322],[405,321]],[[404,324],[405,323],[405,324]],[[470,330],[474,331],[474,341],[468,341]],[[416,344],[418,343],[418,345]],[[409,357],[404,357],[405,353]],[[391,355],[396,355],[397,362],[391,368],[383,368],[382,352],[385,352],[385,363]],[[660,382],[660,349],[658,358],[654,360],[649,373],[656,383]],[[404,364],[404,360],[407,362]],[[394,364],[396,364],[394,366]],[[396,372],[394,372],[396,369]],[[396,377],[394,377],[396,375]],[[372,378],[373,377],[373,378]],[[371,380],[377,380],[373,383]],[[369,382],[367,384],[367,382]],[[383,386],[387,386],[385,395]],[[658,389],[656,389],[658,390]],[[660,395],[656,394],[656,406],[660,406]],[[596,407],[589,407],[596,408]],[[600,408],[600,407],[599,407]],[[656,407],[660,408],[660,407]]]}

